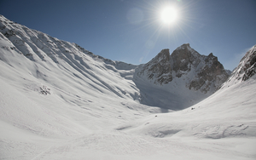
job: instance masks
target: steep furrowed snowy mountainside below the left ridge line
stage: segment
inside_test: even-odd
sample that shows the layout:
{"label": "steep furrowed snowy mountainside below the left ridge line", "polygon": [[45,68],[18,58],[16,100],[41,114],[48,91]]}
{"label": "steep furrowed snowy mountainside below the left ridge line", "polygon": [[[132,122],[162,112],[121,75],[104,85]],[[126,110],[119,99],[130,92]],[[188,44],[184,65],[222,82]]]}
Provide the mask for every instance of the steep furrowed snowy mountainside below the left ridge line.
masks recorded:
{"label": "steep furrowed snowy mountainside below the left ridge line", "polygon": [[[9,42],[7,45],[2,43],[1,60],[9,64],[9,59],[13,58],[10,54],[4,54],[4,50],[11,52],[17,58],[20,56],[17,62],[20,64],[16,67],[24,71],[22,74],[31,74],[58,88],[67,86],[68,83],[76,83],[81,85],[79,88],[85,93],[86,88],[95,91],[95,94],[90,93],[92,95],[103,93],[137,99],[138,90],[135,89],[135,85],[131,81],[129,83],[119,81],[132,74],[127,70],[135,66],[103,59],[75,43],[67,43],[40,31],[14,24],[3,16],[1,16],[0,31],[2,42]],[[25,57],[27,60],[24,60]],[[52,69],[55,71],[51,71]],[[49,76],[50,73],[58,74]],[[76,82],[73,80],[68,82],[67,76],[75,77],[73,80]],[[120,85],[122,89],[119,88]]]}

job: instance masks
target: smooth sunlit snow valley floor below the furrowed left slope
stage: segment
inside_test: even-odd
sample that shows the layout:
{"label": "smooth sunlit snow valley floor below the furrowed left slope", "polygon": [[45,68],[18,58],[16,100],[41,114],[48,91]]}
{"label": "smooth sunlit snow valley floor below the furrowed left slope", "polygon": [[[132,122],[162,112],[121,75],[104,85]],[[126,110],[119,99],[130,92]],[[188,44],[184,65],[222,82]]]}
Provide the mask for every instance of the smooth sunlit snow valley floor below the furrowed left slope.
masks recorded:
{"label": "smooth sunlit snow valley floor below the furrowed left slope", "polygon": [[0,81],[0,159],[256,158],[255,77],[169,113],[111,96],[75,99],[49,86],[50,94],[40,94],[25,79]]}

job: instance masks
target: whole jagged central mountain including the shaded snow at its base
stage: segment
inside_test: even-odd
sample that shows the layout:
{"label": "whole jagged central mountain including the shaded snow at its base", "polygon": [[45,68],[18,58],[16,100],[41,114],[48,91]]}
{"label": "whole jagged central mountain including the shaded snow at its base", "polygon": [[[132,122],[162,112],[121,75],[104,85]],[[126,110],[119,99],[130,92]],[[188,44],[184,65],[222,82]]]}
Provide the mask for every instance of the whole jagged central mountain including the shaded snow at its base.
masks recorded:
{"label": "whole jagged central mountain including the shaded snow at its base", "polygon": [[[163,49],[147,64],[138,66],[134,79],[144,104],[180,110],[207,98],[228,77],[216,56],[201,55],[186,43],[171,55],[169,49]],[[148,92],[150,88],[152,92]]]}

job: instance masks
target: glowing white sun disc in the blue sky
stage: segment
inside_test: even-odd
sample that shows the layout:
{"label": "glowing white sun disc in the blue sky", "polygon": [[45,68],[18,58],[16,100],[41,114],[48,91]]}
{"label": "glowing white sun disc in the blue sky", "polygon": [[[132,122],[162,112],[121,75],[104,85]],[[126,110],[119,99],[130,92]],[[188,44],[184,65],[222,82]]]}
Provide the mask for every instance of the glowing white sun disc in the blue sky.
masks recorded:
{"label": "glowing white sun disc in the blue sky", "polygon": [[172,7],[166,7],[161,11],[160,18],[165,24],[173,24],[177,20],[177,10]]}

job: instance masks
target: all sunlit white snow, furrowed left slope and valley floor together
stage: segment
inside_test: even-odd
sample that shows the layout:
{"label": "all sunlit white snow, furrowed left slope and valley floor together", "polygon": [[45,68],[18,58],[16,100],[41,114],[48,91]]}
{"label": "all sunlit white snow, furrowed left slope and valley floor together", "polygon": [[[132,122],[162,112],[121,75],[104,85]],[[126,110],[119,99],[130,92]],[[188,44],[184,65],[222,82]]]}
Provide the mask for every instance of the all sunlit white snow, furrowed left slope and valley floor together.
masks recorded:
{"label": "all sunlit white snow, furrowed left slope and valley floor together", "polygon": [[146,106],[136,66],[0,18],[1,160],[256,159],[256,76],[182,111]]}

